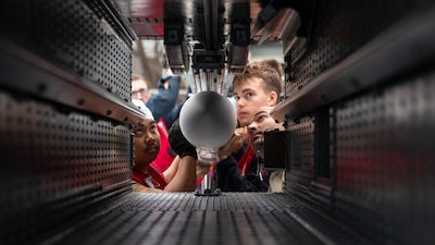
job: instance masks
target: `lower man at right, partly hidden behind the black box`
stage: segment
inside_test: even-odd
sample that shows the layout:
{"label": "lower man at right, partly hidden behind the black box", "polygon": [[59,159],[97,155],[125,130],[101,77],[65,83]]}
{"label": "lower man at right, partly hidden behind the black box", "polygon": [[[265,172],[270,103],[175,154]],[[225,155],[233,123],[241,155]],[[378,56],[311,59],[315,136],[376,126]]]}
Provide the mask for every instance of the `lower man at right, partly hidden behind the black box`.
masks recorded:
{"label": "lower man at right, partly hidden behind the black box", "polygon": [[[274,107],[261,107],[249,120],[248,132],[249,144],[257,152],[257,156],[264,159],[264,132],[284,131],[283,123],[277,123],[272,117],[271,111]],[[285,171],[272,171],[269,177],[269,192],[283,192]]]}

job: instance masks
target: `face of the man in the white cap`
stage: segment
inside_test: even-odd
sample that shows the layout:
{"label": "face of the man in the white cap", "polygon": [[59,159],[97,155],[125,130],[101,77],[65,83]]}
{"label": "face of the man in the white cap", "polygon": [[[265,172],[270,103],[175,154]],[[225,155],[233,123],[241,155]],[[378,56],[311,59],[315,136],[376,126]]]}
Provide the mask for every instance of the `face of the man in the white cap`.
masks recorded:
{"label": "face of the man in the white cap", "polygon": [[146,119],[133,127],[135,164],[145,166],[157,158],[160,150],[160,134],[154,120]]}

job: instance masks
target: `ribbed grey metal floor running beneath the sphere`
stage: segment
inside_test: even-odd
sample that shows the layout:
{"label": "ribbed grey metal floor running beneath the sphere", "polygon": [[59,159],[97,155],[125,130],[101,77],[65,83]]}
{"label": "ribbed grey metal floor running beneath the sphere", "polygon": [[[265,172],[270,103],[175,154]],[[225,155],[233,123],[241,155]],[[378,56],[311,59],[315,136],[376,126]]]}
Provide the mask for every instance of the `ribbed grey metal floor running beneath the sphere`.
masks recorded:
{"label": "ribbed grey metal floor running beneath the sphere", "polygon": [[362,243],[287,194],[130,193],[42,244]]}

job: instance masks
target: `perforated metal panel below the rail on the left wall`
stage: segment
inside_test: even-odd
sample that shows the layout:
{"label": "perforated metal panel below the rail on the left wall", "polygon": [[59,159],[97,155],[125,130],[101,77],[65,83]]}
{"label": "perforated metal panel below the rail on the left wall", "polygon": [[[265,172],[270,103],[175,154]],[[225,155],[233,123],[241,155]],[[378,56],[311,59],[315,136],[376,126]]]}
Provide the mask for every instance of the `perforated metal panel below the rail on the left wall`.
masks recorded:
{"label": "perforated metal panel below the rail on the left wall", "polygon": [[130,181],[128,125],[0,91],[0,241],[35,235]]}

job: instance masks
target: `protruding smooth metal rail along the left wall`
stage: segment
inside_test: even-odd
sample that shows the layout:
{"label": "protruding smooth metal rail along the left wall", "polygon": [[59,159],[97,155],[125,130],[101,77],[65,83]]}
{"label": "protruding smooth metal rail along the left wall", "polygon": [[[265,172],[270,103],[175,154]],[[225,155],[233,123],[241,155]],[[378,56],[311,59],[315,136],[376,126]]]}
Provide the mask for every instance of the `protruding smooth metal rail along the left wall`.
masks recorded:
{"label": "protruding smooth metal rail along the left wall", "polygon": [[73,75],[4,39],[0,39],[0,86],[9,89],[122,123],[136,124],[146,117],[132,102],[95,82]]}

